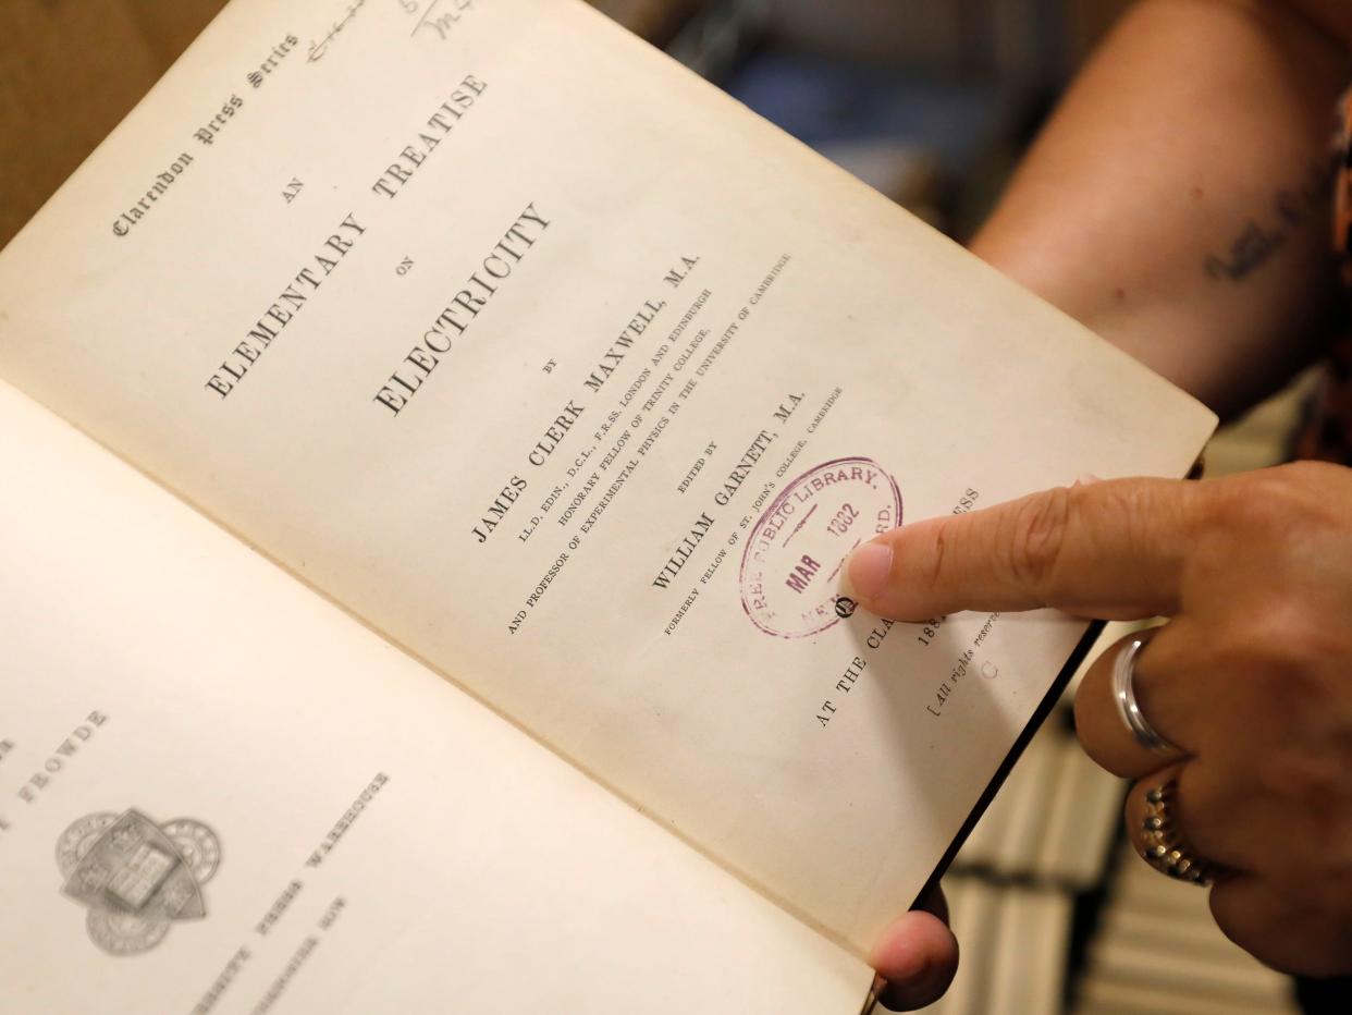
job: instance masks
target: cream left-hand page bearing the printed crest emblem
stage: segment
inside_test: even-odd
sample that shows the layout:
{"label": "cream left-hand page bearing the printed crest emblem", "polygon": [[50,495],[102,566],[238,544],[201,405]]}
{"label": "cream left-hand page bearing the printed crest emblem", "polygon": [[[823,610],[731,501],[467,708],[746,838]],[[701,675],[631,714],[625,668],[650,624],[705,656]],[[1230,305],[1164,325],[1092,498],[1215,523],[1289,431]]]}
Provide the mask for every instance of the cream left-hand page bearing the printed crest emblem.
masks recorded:
{"label": "cream left-hand page bearing the printed crest emblem", "polygon": [[0,1011],[859,1011],[860,962],[3,384],[0,460]]}

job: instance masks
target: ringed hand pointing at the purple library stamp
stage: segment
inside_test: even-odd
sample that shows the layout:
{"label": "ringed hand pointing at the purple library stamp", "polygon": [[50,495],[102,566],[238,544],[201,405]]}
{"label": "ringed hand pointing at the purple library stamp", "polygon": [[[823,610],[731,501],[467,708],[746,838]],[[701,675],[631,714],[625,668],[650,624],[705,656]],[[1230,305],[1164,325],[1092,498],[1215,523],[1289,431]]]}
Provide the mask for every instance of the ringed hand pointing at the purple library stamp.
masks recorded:
{"label": "ringed hand pointing at the purple library stamp", "polygon": [[[1049,490],[877,537],[848,566],[899,620],[1055,606],[1171,620],[1141,650],[1151,751],[1113,700],[1113,646],[1086,675],[1086,751],[1145,793],[1171,780],[1187,851],[1221,865],[1211,911],[1278,969],[1352,972],[1352,470],[1299,464],[1182,483]],[[1176,747],[1175,747],[1176,746]]]}

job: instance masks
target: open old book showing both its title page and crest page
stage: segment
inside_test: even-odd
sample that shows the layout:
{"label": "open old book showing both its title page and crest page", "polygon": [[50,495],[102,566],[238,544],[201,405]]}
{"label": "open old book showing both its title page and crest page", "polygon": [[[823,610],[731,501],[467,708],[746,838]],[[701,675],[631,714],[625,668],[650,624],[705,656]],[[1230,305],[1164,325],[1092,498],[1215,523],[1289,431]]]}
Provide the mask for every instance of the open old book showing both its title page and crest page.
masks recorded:
{"label": "open old book showing both its title page and crest page", "polygon": [[14,1011],[853,1012],[1214,418],[573,0],[235,0],[0,254]]}

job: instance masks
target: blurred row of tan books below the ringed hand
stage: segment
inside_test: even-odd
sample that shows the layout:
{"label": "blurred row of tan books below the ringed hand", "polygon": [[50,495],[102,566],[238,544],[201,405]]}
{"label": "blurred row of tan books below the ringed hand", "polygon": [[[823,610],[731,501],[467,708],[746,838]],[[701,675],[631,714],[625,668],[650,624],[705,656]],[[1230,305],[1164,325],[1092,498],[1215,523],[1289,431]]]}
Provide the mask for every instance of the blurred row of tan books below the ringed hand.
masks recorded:
{"label": "blurred row of tan books below the ringed hand", "polygon": [[[1233,440],[1232,440],[1233,444]],[[1107,625],[1092,659],[1130,631]],[[1294,1015],[1291,981],[1122,832],[1126,784],[1075,740],[1076,674],[944,878],[963,965],[941,1015]]]}

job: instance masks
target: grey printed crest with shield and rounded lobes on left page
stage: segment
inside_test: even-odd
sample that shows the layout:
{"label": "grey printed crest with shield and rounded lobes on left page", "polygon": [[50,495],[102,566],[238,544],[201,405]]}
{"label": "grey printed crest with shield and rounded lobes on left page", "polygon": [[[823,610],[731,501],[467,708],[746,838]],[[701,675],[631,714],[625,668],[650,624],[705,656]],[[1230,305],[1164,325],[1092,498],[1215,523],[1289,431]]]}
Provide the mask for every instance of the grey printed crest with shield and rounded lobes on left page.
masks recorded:
{"label": "grey printed crest with shield and rounded lobes on left page", "polygon": [[149,951],[177,920],[207,915],[203,886],[220,842],[201,821],[155,824],[139,811],[81,817],[61,834],[62,892],[89,912],[89,938],[111,955]]}

